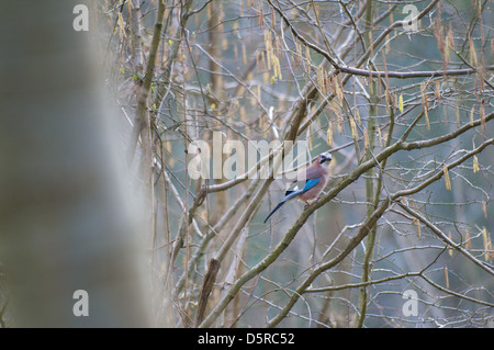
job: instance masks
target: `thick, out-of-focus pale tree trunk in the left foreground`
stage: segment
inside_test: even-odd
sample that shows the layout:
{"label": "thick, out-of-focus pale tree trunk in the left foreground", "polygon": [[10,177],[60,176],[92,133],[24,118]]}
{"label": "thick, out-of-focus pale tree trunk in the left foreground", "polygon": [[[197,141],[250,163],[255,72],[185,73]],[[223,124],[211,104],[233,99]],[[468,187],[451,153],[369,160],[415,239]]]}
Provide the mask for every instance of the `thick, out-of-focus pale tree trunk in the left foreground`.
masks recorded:
{"label": "thick, out-of-focus pale tree trunk in the left foreground", "polygon": [[[85,1],[0,4],[0,260],[12,326],[146,326],[139,245]],[[91,36],[91,37],[90,37]],[[89,316],[76,317],[75,291]]]}

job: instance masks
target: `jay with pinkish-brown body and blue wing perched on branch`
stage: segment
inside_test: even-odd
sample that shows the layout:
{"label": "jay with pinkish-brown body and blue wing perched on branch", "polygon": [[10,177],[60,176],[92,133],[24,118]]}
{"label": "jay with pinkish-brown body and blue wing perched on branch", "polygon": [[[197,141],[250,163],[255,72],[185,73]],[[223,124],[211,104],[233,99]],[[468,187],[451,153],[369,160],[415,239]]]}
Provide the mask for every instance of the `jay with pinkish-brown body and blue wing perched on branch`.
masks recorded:
{"label": "jay with pinkish-brown body and blue wing perched on branch", "polygon": [[[304,202],[306,206],[310,205],[310,200],[318,200],[321,191],[323,191],[326,187],[330,162],[332,155],[328,151],[325,151],[317,157],[316,161],[314,161],[312,166],[299,172],[296,180],[293,181],[293,184],[296,184],[296,187],[284,193],[284,197],[280,203],[278,203],[271,213],[269,213],[268,217],[265,219],[265,223],[271,217],[272,214],[274,214],[276,211],[281,207],[281,205],[290,200],[293,200],[294,197],[297,197]],[[299,190],[299,185],[303,185],[302,190]]]}

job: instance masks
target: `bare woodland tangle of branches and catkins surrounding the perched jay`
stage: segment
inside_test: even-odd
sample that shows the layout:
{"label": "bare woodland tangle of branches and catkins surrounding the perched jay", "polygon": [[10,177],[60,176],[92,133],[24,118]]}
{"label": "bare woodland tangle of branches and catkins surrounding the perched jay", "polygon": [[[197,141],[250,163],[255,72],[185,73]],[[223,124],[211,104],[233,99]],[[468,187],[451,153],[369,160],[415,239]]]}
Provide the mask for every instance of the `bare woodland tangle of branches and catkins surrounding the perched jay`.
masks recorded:
{"label": "bare woodland tangle of branches and catkins surrounding the perched jay", "polygon": [[[491,1],[88,4],[143,194],[150,325],[493,326]],[[322,199],[263,224],[283,179],[191,180],[186,150],[213,132],[329,150]]]}

